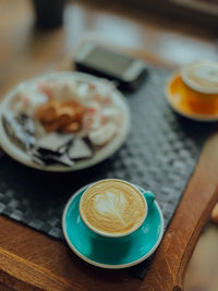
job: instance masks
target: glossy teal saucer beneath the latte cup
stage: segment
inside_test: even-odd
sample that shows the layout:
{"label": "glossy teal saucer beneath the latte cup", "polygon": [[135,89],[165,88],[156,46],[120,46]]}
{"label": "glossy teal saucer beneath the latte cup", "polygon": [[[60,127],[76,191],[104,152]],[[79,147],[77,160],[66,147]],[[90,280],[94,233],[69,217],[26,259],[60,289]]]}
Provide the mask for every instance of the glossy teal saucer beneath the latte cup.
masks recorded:
{"label": "glossy teal saucer beneath the latte cup", "polygon": [[142,227],[124,242],[97,240],[84,225],[78,203],[87,186],[78,190],[68,202],[62,217],[62,229],[71,250],[85,262],[109,269],[134,266],[149,257],[164,234],[164,218],[155,201]]}

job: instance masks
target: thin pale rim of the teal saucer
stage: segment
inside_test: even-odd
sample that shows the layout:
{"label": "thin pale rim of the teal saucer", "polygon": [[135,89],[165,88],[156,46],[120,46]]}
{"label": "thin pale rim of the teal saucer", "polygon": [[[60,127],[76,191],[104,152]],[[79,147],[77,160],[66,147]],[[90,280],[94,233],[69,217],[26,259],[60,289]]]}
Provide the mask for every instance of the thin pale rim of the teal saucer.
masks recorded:
{"label": "thin pale rim of the teal saucer", "polygon": [[[90,184],[89,184],[90,185]],[[88,185],[86,185],[88,186]],[[81,187],[80,190],[77,190],[75,192],[75,194],[73,194],[73,196],[69,199],[69,202],[66,203],[65,207],[64,207],[64,210],[63,210],[63,215],[62,215],[62,230],[63,230],[63,234],[64,234],[64,238],[66,240],[66,243],[68,245],[70,246],[70,248],[80,257],[82,258],[83,260],[89,263],[90,265],[94,265],[96,267],[100,267],[100,268],[105,268],[105,269],[124,269],[124,268],[129,268],[129,267],[132,267],[132,266],[135,266],[137,264],[140,264],[141,262],[145,260],[146,258],[148,258],[158,247],[158,245],[160,244],[161,242],[161,239],[162,239],[162,235],[164,235],[164,230],[165,230],[165,226],[164,226],[164,216],[162,216],[162,211],[157,203],[157,201],[155,201],[154,203],[156,204],[157,206],[157,209],[159,211],[159,215],[160,215],[160,234],[158,237],[158,240],[157,242],[155,243],[155,245],[153,246],[153,248],[150,248],[150,251],[145,254],[144,256],[142,256],[141,258],[136,259],[136,260],[133,260],[131,263],[126,263],[126,264],[120,264],[120,265],[108,265],[108,264],[101,264],[101,263],[98,263],[96,260],[93,260],[93,259],[89,259],[87,258],[86,256],[82,255],[75,247],[74,245],[71,243],[69,237],[68,237],[68,232],[66,232],[66,227],[65,227],[65,216],[66,216],[66,213],[69,210],[69,207],[71,205],[71,203],[75,199],[75,197],[77,195],[80,195],[80,193],[83,191],[84,187],[86,186],[83,186]]]}

